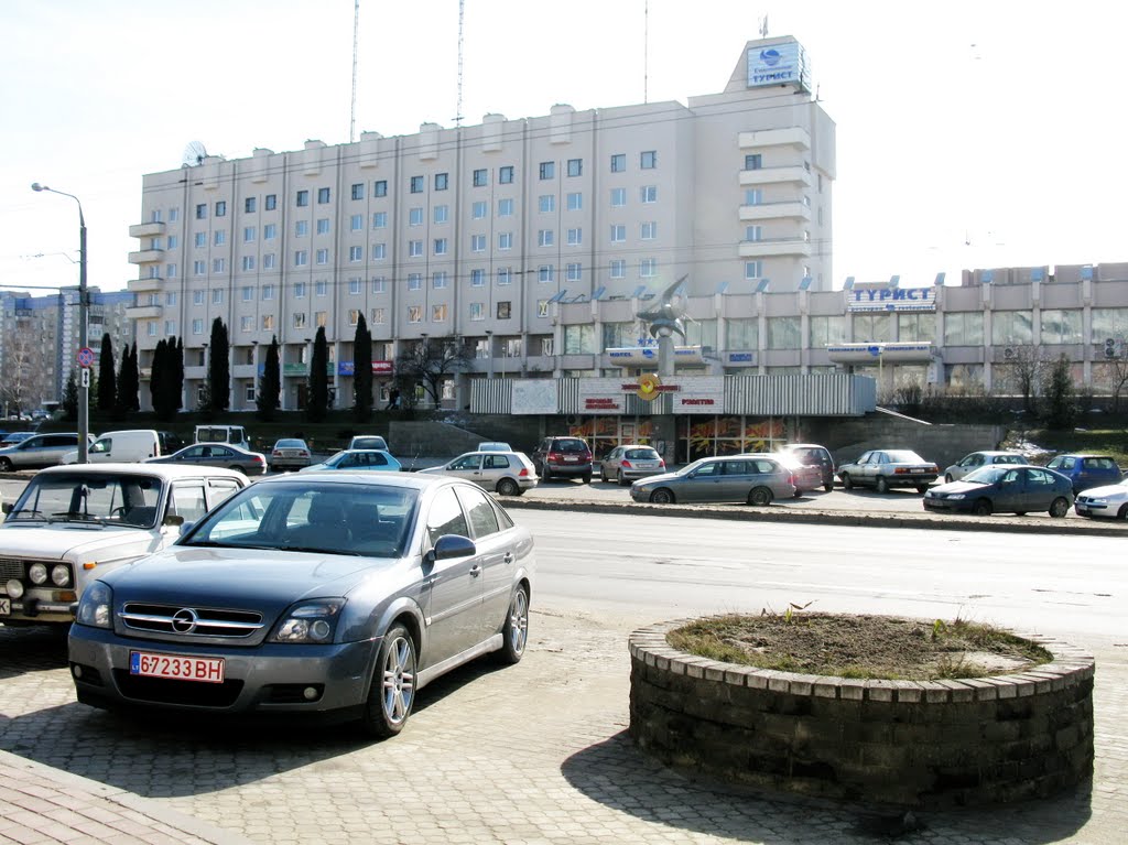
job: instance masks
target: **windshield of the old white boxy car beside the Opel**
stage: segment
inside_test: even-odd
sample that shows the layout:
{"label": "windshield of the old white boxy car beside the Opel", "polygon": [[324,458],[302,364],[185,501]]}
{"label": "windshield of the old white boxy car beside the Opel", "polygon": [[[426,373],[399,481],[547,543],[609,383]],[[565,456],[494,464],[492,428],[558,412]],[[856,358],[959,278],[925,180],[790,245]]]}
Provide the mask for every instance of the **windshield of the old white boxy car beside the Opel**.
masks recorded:
{"label": "windshield of the old white boxy car beside the Opel", "polygon": [[35,476],[6,522],[44,520],[152,528],[164,492],[155,476],[53,473]]}

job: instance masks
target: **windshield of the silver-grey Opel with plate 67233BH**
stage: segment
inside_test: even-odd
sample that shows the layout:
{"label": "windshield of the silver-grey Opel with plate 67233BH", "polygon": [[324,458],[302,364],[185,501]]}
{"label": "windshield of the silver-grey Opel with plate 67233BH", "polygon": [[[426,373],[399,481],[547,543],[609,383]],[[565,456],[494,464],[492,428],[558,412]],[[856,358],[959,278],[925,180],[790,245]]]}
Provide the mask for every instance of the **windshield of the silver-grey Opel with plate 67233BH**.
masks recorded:
{"label": "windshield of the silver-grey Opel with plate 67233BH", "polygon": [[382,484],[254,484],[205,517],[182,546],[403,556],[418,491]]}

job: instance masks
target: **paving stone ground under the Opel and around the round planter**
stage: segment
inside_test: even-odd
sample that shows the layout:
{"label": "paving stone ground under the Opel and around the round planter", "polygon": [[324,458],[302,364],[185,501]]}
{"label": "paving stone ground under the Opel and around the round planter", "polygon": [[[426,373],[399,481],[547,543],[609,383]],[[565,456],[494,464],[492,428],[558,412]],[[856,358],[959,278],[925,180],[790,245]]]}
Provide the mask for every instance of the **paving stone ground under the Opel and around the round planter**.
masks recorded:
{"label": "paving stone ground under the Opel and around the round planter", "polygon": [[640,755],[626,637],[651,622],[535,610],[521,663],[435,681],[385,742],[105,714],[74,702],[61,637],[0,628],[0,843],[1125,842],[1128,654],[1096,655],[1092,789],[919,813],[899,833],[895,815],[731,789]]}

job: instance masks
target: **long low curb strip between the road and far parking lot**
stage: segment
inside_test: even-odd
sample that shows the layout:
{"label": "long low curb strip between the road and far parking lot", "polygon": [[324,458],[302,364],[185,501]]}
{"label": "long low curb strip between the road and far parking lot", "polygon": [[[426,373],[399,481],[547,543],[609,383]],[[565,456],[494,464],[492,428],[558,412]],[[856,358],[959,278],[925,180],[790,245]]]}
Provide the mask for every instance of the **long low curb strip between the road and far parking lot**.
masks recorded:
{"label": "long low curb strip between the road and far parking lot", "polygon": [[764,509],[743,509],[735,507],[708,507],[685,504],[644,504],[632,502],[611,504],[607,502],[589,502],[580,500],[523,499],[508,496],[504,500],[506,509],[527,509],[545,511],[570,511],[578,513],[641,513],[651,517],[673,517],[677,519],[726,519],[743,522],[795,522],[799,525],[835,525],[861,528],[919,528],[946,531],[1010,531],[1014,534],[1050,534],[1078,535],[1090,537],[1125,537],[1128,526],[1120,523],[1100,525],[1095,521],[1066,522],[1030,522],[1022,517],[985,517],[968,519],[967,517],[934,517],[922,513],[906,514],[897,511],[875,511],[867,513],[843,513],[841,511],[778,509],[770,505]]}

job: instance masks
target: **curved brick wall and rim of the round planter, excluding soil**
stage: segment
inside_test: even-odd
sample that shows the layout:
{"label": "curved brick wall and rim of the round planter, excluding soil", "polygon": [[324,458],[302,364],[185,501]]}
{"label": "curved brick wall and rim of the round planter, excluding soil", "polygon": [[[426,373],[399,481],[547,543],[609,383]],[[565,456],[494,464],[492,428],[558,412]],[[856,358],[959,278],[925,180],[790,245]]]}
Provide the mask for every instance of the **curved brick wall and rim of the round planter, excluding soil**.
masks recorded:
{"label": "curved brick wall and rim of the round planter, excluding soil", "polygon": [[935,809],[1046,798],[1093,771],[1093,659],[987,678],[851,680],[722,663],[635,631],[631,728],[663,763],[755,786]]}

